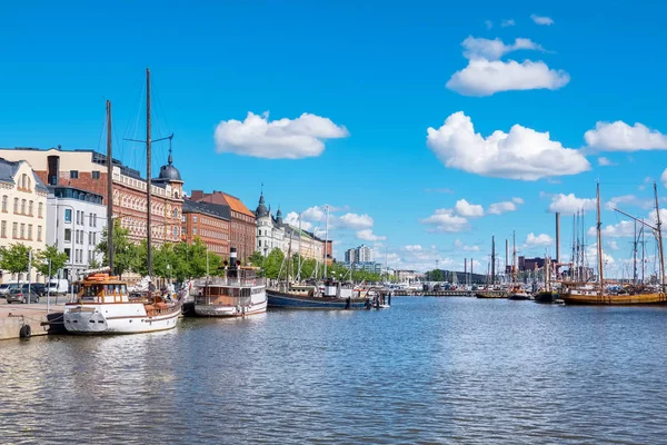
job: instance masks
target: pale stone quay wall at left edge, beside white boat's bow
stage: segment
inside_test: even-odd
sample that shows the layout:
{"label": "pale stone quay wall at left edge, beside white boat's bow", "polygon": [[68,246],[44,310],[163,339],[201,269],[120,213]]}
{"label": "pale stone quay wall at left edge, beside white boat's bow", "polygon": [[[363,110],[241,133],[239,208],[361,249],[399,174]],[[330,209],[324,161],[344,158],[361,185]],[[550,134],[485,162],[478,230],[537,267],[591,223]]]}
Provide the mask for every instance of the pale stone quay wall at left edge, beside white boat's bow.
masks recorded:
{"label": "pale stone quay wall at left edge, beside white boat's bow", "polygon": [[47,314],[46,303],[8,305],[0,301],[0,340],[64,333],[62,308],[63,304],[51,304]]}

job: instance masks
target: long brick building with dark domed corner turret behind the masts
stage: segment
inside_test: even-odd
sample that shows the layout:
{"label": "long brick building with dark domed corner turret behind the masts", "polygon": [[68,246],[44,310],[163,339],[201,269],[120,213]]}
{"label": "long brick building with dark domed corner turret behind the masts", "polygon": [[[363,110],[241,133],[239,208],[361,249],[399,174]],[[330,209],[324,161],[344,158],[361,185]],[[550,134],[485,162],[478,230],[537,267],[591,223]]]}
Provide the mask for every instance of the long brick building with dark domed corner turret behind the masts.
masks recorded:
{"label": "long brick building with dark domed corner turret behind the masts", "polygon": [[[27,160],[48,186],[66,186],[101,195],[107,204],[107,157],[93,150],[50,148],[3,148],[0,157]],[[139,243],[147,235],[147,182],[138,170],[113,162],[113,217],[129,229],[130,239]],[[151,185],[152,240],[155,245],[181,239],[183,181],[172,165],[172,157],[160,168]]]}

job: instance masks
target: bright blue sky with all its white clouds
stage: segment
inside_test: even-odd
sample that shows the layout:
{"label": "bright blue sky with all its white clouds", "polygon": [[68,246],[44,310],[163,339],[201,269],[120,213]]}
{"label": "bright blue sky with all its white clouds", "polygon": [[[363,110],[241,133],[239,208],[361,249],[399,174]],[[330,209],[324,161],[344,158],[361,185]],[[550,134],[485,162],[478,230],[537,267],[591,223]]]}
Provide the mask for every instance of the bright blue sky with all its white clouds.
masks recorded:
{"label": "bright blue sky with all its white clouds", "polygon": [[484,271],[492,235],[554,255],[560,211],[567,259],[599,181],[605,267],[627,276],[634,224],[613,208],[650,220],[654,180],[667,196],[667,4],[507,3],[3,2],[0,146],[103,150],[109,99],[115,157],[145,171],[123,139],[143,138],[150,67],[186,190],[255,209],[263,189],[319,235],[329,206],[338,258]]}

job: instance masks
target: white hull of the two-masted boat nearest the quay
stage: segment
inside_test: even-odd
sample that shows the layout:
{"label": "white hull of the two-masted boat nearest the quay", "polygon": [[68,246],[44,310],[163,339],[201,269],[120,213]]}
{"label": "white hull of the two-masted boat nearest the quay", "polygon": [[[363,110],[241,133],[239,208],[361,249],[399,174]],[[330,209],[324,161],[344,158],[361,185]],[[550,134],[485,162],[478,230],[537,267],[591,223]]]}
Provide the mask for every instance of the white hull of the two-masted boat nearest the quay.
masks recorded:
{"label": "white hull of the two-masted boat nearest the quay", "polygon": [[172,310],[149,316],[143,304],[71,305],[63,312],[64,328],[71,334],[141,334],[173,329],[181,315]]}

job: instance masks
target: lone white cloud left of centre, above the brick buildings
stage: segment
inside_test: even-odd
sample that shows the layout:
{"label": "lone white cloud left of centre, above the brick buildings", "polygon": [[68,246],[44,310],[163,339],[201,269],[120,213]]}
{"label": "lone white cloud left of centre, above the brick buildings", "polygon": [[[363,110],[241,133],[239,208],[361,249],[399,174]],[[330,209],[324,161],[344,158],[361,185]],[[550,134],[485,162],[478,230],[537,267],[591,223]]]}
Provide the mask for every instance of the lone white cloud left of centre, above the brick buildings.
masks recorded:
{"label": "lone white cloud left of centre, above the brick buildings", "polygon": [[242,122],[222,120],[216,128],[216,150],[269,159],[299,159],[319,156],[326,139],[349,136],[328,118],[302,113],[296,119],[269,121],[269,113],[248,112]]}

